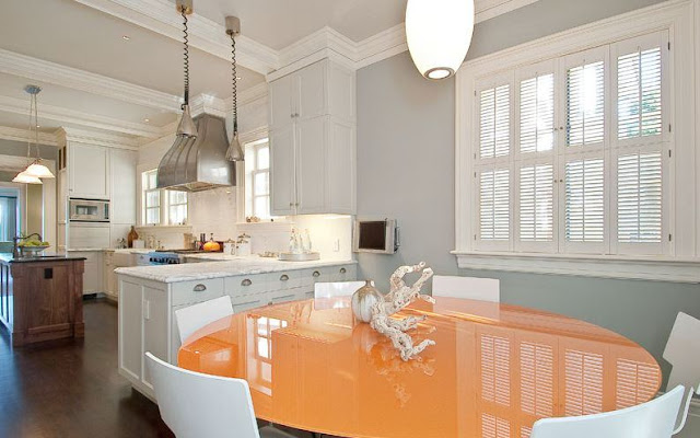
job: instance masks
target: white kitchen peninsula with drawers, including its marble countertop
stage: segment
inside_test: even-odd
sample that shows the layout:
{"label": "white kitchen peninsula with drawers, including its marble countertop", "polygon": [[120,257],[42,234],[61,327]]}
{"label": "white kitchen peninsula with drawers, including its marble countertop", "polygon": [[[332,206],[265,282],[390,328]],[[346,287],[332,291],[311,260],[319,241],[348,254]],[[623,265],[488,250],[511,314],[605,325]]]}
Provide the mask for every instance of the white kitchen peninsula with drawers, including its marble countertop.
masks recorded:
{"label": "white kitchen peninsula with drawers, including its marble countertop", "polygon": [[229,296],[234,313],[314,297],[318,281],[357,279],[353,261],[280,262],[210,254],[217,262],[116,269],[119,281],[119,373],[153,399],[144,354],[177,365],[175,312]]}

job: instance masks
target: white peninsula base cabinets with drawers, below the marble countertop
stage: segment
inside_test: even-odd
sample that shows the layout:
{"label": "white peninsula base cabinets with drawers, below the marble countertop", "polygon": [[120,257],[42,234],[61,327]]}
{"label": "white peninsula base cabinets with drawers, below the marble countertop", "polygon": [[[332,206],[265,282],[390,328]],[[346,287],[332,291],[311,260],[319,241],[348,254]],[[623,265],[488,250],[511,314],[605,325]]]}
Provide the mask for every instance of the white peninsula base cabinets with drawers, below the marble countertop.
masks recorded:
{"label": "white peninsula base cabinets with drawers, below the marble countertop", "polygon": [[313,298],[316,280],[353,280],[354,275],[354,264],[170,284],[119,274],[119,373],[147,396],[154,396],[143,355],[151,351],[177,365],[180,342],[175,311],[179,309],[228,295],[238,313]]}

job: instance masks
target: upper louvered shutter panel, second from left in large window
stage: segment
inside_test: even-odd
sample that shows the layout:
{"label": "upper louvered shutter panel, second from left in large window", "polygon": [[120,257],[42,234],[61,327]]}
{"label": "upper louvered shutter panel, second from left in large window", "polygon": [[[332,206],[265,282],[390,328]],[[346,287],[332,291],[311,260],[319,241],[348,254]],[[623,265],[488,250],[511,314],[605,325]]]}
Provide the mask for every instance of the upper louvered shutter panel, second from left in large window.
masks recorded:
{"label": "upper louvered shutter panel, second from left in large window", "polygon": [[555,74],[521,82],[521,152],[549,151],[555,146]]}

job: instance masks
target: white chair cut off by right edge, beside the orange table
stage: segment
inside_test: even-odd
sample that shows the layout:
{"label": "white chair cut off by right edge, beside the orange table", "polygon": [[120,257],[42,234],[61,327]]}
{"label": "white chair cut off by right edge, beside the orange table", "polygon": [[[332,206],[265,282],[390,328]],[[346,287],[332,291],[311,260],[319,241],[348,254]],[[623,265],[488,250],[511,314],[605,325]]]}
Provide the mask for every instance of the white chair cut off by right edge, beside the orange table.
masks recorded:
{"label": "white chair cut off by right edge, beside the orange table", "polygon": [[678,413],[675,434],[682,430],[690,411],[692,393],[700,391],[700,320],[678,312],[676,322],[668,336],[664,359],[672,365],[668,388],[679,384],[688,388],[688,400]]}

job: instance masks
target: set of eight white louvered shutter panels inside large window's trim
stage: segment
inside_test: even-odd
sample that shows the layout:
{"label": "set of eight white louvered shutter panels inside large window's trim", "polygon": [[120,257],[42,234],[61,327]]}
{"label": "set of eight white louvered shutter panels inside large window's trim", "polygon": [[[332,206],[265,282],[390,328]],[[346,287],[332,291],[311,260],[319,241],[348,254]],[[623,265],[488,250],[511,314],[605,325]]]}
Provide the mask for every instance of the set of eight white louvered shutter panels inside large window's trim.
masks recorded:
{"label": "set of eight white louvered shutter panels inside large window's trim", "polygon": [[476,80],[477,251],[669,252],[668,33]]}

